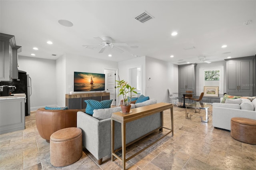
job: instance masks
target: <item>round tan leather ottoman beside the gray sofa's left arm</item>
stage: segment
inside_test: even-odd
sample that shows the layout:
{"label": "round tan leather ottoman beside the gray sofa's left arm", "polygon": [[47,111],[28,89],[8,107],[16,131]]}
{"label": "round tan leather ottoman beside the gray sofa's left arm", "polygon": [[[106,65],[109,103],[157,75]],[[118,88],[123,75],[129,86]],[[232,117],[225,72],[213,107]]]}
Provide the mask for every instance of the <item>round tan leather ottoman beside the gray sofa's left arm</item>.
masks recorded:
{"label": "round tan leather ottoman beside the gray sofa's left arm", "polygon": [[50,160],[56,167],[73,164],[82,156],[82,130],[63,128],[50,136]]}

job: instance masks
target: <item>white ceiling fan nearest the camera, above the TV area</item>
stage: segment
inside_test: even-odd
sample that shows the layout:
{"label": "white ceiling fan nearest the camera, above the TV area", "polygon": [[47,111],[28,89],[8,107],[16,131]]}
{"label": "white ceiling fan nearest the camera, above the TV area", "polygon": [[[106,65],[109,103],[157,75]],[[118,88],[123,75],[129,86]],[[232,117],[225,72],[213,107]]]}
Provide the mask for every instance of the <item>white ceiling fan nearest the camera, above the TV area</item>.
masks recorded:
{"label": "white ceiling fan nearest the camera, above the TV area", "polygon": [[128,46],[127,43],[112,43],[112,38],[107,37],[107,36],[104,36],[102,38],[100,38],[100,37],[94,37],[94,38],[96,40],[99,40],[101,42],[101,44],[82,45],[82,46],[85,47],[85,48],[88,48],[88,49],[95,49],[96,45],[100,45],[101,49],[100,49],[99,53],[103,53],[106,48],[111,48],[111,49],[114,49],[114,50],[116,50],[120,53],[123,53],[124,51],[122,49],[119,49],[116,46]]}

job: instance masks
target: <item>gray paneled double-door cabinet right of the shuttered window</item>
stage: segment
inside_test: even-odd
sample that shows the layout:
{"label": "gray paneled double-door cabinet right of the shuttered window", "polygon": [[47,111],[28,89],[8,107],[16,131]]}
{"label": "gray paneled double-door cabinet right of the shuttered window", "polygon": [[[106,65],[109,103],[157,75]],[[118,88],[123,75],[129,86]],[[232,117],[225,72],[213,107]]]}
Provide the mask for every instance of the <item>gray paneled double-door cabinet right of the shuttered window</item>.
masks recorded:
{"label": "gray paneled double-door cabinet right of the shuttered window", "polygon": [[255,96],[255,56],[225,59],[228,95]]}

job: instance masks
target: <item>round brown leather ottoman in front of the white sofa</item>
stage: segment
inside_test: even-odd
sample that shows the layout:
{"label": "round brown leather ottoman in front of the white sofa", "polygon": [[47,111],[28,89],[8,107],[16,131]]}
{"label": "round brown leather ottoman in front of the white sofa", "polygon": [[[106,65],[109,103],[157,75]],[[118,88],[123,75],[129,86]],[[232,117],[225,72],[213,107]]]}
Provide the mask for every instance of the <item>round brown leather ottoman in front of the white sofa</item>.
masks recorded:
{"label": "round brown leather ottoman in front of the white sofa", "polygon": [[233,117],[231,119],[230,135],[240,142],[256,144],[256,120]]}

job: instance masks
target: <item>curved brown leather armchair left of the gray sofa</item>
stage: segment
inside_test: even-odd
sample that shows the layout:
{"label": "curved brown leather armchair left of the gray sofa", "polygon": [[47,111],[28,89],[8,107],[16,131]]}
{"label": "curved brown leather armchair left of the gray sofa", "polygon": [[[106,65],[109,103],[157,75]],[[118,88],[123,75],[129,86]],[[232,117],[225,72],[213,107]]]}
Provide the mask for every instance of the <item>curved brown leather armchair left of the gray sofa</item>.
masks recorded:
{"label": "curved brown leather armchair left of the gray sofa", "polygon": [[50,136],[57,130],[76,127],[76,113],[80,110],[46,110],[36,111],[36,127],[40,136],[50,142]]}

